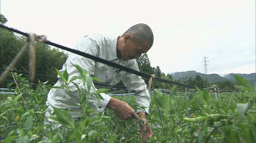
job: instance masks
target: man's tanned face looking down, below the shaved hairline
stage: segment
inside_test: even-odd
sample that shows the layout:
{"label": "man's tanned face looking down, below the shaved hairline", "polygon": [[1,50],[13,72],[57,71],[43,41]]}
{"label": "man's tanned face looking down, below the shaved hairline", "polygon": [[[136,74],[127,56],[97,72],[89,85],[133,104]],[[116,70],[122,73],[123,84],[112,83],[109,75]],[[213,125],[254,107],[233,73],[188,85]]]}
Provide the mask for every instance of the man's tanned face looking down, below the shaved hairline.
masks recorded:
{"label": "man's tanned face looking down, below the shaved hairline", "polygon": [[151,47],[147,44],[136,44],[129,41],[123,45],[121,57],[124,61],[139,59],[142,53],[146,53]]}

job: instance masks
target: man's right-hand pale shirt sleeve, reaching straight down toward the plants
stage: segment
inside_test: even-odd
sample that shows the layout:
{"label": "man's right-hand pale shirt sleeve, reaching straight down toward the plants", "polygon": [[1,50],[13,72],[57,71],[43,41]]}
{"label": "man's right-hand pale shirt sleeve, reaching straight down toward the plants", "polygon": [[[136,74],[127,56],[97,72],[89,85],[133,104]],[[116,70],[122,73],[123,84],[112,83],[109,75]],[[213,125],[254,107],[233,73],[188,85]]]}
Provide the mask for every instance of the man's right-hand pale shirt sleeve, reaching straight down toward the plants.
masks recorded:
{"label": "man's right-hand pale shirt sleeve, reaching straight down toward the plants", "polygon": [[[136,61],[129,68],[139,71],[139,67]],[[138,113],[144,111],[148,113],[151,98],[146,88],[146,83],[141,78],[141,76],[126,72],[122,78],[122,82],[129,91],[135,91],[134,95],[136,96],[136,104],[143,107],[138,108],[136,112]]]}

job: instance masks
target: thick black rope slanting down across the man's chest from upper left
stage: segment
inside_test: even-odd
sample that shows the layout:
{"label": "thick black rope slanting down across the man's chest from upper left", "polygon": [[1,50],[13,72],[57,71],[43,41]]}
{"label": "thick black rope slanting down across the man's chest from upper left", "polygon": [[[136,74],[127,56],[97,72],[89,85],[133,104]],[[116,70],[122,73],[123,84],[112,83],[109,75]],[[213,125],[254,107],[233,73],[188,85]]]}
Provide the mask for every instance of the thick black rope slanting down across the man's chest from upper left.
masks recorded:
{"label": "thick black rope slanting down across the man's chest from upper left", "polygon": [[[3,25],[3,24],[0,24],[0,26],[3,27],[3,28],[6,28],[6,29],[9,30],[9,31],[12,31],[12,32],[15,32],[15,33],[18,33],[18,34],[21,34],[21,35],[24,35],[24,36],[28,37],[28,34],[27,34],[27,33],[24,33],[24,32],[18,31],[18,30],[15,30],[14,28],[7,27],[7,26],[5,26],[5,25]],[[126,72],[136,74],[136,75],[138,75],[138,76],[142,76],[142,77],[145,77],[145,78],[150,78],[150,77],[151,77],[150,74],[143,73],[143,72],[139,72],[139,71],[136,71],[136,70],[134,70],[134,69],[127,68],[127,67],[125,67],[125,66],[122,66],[122,65],[119,65],[119,64],[116,64],[116,63],[113,63],[113,62],[104,60],[104,59],[102,59],[102,58],[99,58],[99,57],[97,57],[97,56],[94,56],[94,55],[91,55],[91,54],[88,54],[88,53],[84,53],[84,52],[81,52],[81,51],[78,51],[78,50],[75,50],[75,49],[71,49],[71,48],[68,48],[68,47],[66,47],[66,46],[62,46],[62,45],[53,43],[53,42],[48,41],[48,40],[47,40],[45,43],[47,43],[47,44],[49,44],[49,45],[52,45],[52,46],[55,46],[55,47],[58,47],[58,48],[61,48],[61,49],[63,49],[63,50],[67,50],[67,51],[76,53],[76,54],[78,54],[78,55],[81,55],[81,56],[84,56],[84,57],[86,57],[86,58],[92,59],[92,60],[94,60],[94,61],[97,61],[97,62],[106,64],[106,65],[115,67],[115,68],[117,68],[117,69],[121,69],[121,70],[124,70],[124,71],[126,71]],[[156,77],[154,80],[160,81],[160,82],[169,83],[169,84],[179,85],[180,87],[195,89],[194,86],[187,85],[187,84],[183,84],[183,83],[179,83],[179,82],[175,82],[175,81],[170,81],[170,80],[163,79],[163,78],[159,78],[159,77]]]}

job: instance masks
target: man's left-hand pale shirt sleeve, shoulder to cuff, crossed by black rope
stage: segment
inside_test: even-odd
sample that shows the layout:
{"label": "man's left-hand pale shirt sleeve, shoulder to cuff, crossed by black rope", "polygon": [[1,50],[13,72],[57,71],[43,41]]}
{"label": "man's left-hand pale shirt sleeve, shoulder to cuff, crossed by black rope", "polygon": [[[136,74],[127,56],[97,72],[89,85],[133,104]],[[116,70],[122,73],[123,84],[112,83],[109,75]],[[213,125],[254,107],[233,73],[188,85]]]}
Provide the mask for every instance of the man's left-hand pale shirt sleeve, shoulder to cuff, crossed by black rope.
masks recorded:
{"label": "man's left-hand pale shirt sleeve, shoulder to cuff, crossed by black rope", "polygon": [[[92,40],[88,37],[83,37],[82,40],[76,44],[74,49],[97,56],[98,50],[99,50],[98,48],[99,48],[99,46],[97,45],[97,41]],[[87,70],[88,74],[90,76],[93,75],[95,72],[95,61],[94,60],[85,58],[85,57],[75,54],[75,53],[70,53],[70,55],[67,59],[67,62],[63,65],[63,68],[62,68],[62,71],[67,69],[67,72],[69,73],[69,79],[80,75],[78,70],[73,65],[79,65],[83,69],[83,71]],[[80,88],[84,89],[82,79],[76,79],[76,80],[74,80],[74,82],[76,84],[78,84]],[[85,87],[87,87],[87,86],[85,86]],[[76,87],[74,87],[74,85],[72,85],[72,83],[69,88],[76,89]],[[94,84],[92,84],[92,87],[90,90],[92,90],[92,91],[97,90],[95,88]],[[98,112],[98,111],[102,112],[105,109],[106,105],[108,104],[108,102],[111,98],[110,96],[108,96],[104,93],[101,93],[100,95],[102,96],[103,100],[97,100],[96,97],[90,97],[92,99],[89,100],[89,104],[91,106],[94,106],[94,107],[92,107],[92,109],[96,108],[96,112]]]}

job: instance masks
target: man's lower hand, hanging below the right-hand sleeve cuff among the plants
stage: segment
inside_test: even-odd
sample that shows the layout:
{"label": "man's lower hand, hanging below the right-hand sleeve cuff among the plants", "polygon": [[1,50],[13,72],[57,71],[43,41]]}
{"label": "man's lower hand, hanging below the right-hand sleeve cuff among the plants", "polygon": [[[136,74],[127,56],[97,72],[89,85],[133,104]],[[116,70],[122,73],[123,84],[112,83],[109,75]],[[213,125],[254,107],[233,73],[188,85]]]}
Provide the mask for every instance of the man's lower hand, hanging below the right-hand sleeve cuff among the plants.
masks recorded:
{"label": "man's lower hand, hanging below the right-hand sleeve cuff among the plants", "polygon": [[145,112],[139,112],[139,126],[140,126],[140,138],[143,139],[143,142],[147,141],[148,137],[152,137],[153,132],[150,127],[150,123],[147,123],[146,121],[146,114]]}

